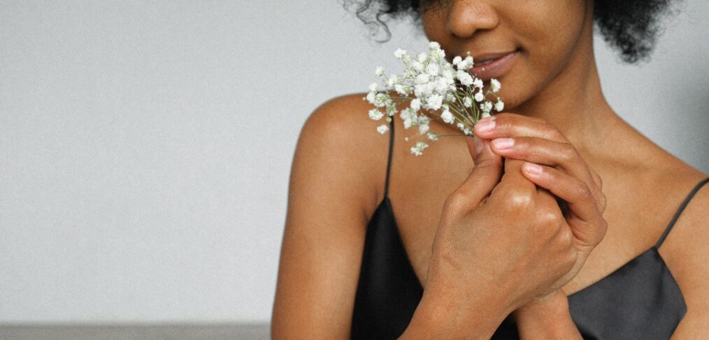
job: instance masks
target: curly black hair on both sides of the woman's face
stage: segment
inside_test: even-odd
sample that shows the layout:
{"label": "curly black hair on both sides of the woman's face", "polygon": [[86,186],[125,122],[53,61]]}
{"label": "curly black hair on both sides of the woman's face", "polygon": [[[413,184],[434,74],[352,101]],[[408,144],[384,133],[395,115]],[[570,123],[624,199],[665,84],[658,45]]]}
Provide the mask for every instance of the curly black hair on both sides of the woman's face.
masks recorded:
{"label": "curly black hair on both sides of the woman's face", "polygon": [[[439,4],[443,0],[438,0]],[[662,26],[660,18],[676,0],[595,0],[593,22],[603,40],[620,52],[620,58],[633,64],[649,60]],[[420,6],[432,0],[344,0],[347,10],[362,20],[372,36],[383,29],[388,41],[391,33],[386,21],[408,17],[420,22]]]}

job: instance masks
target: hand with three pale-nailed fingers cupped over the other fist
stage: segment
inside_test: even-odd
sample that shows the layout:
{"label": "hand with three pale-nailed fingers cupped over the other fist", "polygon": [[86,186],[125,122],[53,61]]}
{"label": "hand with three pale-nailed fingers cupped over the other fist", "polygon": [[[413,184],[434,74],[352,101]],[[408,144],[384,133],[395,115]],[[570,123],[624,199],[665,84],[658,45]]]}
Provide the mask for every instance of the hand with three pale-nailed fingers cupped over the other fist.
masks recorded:
{"label": "hand with three pale-nailed fingers cupped over the other fist", "polygon": [[[493,123],[492,129],[484,129],[486,121]],[[579,256],[571,271],[554,283],[554,287],[562,287],[581,270],[608,229],[603,218],[606,201],[601,191],[601,176],[588,166],[559,129],[541,118],[499,113],[481,120],[475,125],[474,132],[481,139],[492,141],[491,149],[495,154],[526,161],[522,171],[525,178],[563,200],[562,210],[566,224],[574,232],[574,246]],[[506,141],[513,142],[513,145],[503,148],[503,143],[496,144]],[[541,170],[539,174],[530,171],[535,164]],[[547,297],[542,295],[537,299]]]}

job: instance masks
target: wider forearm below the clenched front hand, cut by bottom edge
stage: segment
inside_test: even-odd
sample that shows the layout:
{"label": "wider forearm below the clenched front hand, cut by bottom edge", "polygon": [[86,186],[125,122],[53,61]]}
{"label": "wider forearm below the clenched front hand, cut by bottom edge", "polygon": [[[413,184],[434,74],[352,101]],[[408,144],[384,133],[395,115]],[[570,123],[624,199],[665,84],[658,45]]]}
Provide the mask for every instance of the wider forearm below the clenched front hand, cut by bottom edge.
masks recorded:
{"label": "wider forearm below the clenched front hand, cut by bottom edge", "polygon": [[511,312],[498,298],[480,295],[464,301],[445,291],[428,290],[398,339],[489,340]]}

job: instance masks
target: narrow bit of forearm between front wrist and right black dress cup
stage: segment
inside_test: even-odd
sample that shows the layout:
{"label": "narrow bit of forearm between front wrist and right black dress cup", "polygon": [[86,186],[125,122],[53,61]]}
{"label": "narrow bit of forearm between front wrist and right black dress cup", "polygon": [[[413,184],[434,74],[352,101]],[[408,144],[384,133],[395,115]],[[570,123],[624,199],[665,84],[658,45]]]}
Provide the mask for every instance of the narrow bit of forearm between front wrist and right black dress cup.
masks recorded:
{"label": "narrow bit of forearm between front wrist and right black dress cup", "polygon": [[569,299],[561,290],[545,302],[530,302],[513,313],[522,340],[583,340],[569,313]]}

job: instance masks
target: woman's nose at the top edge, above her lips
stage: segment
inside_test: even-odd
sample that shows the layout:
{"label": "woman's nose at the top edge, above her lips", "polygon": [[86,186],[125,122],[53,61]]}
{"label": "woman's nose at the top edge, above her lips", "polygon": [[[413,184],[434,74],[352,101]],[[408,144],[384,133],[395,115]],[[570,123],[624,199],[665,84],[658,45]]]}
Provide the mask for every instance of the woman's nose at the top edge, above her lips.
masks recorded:
{"label": "woman's nose at the top edge, above her lips", "polygon": [[448,30],[459,38],[469,38],[476,30],[491,30],[498,23],[500,18],[487,0],[453,0],[448,8]]}

